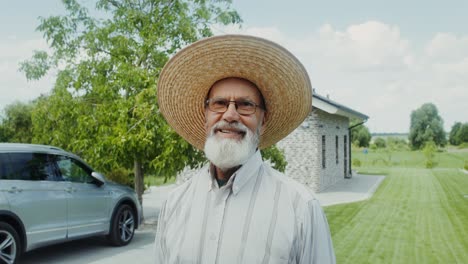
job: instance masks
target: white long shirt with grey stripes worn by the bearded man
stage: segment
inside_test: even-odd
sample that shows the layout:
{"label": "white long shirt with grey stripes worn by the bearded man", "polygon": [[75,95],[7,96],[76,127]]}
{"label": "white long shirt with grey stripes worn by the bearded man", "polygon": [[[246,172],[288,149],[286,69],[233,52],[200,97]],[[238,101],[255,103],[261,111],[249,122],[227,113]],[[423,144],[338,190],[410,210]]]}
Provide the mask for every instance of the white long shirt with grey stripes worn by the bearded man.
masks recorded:
{"label": "white long shirt with grey stripes worn by the bearded man", "polygon": [[325,214],[257,151],[218,187],[206,165],[161,209],[156,263],[335,263]]}

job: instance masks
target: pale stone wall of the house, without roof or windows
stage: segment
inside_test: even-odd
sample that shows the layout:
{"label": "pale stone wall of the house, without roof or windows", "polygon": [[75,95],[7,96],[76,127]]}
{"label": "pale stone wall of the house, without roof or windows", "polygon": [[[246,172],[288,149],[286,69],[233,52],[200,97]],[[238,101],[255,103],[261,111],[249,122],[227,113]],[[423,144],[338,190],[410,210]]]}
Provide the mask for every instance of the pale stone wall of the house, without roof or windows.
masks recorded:
{"label": "pale stone wall of the house, without roof or windows", "polygon": [[[315,192],[323,191],[348,176],[349,167],[346,172],[344,167],[344,136],[349,141],[348,124],[346,117],[314,108],[301,126],[277,144],[285,151],[288,162],[285,174]],[[325,136],[325,168],[322,164],[322,136]]]}

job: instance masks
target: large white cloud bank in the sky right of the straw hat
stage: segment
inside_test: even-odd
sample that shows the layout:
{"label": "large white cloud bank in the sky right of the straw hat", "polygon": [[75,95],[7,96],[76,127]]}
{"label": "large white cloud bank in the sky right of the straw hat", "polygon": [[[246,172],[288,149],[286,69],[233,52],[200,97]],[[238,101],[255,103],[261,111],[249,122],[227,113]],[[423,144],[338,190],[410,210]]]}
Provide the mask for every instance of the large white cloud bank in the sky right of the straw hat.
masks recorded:
{"label": "large white cloud bank in the sky right of the straw hat", "polygon": [[395,25],[368,21],[344,30],[325,24],[291,37],[274,27],[226,28],[223,33],[265,37],[306,66],[322,95],[370,116],[373,132],[407,132],[410,114],[432,102],[449,130],[468,122],[468,36],[435,34],[413,47]]}

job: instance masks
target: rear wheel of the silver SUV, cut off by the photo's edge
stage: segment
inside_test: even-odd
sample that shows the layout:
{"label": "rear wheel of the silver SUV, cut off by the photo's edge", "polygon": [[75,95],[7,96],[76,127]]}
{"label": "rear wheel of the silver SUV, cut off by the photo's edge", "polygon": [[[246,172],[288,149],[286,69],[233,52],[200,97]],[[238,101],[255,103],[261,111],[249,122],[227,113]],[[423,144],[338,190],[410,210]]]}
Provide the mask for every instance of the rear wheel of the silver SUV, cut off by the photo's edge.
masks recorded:
{"label": "rear wheel of the silver SUV, cut off by the photo's edge", "polygon": [[18,233],[9,224],[0,222],[0,263],[14,264],[21,254]]}

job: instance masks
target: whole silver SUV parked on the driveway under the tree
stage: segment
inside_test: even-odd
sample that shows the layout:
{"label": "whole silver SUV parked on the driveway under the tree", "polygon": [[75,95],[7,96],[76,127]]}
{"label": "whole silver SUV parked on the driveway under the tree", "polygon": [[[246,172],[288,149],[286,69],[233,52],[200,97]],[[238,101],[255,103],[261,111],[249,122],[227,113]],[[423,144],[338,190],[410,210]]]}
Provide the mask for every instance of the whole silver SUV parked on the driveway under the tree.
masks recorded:
{"label": "whole silver SUV parked on the driveway under the tree", "polygon": [[51,146],[0,143],[0,263],[95,235],[127,245],[140,221],[135,192],[105,181],[79,157]]}

